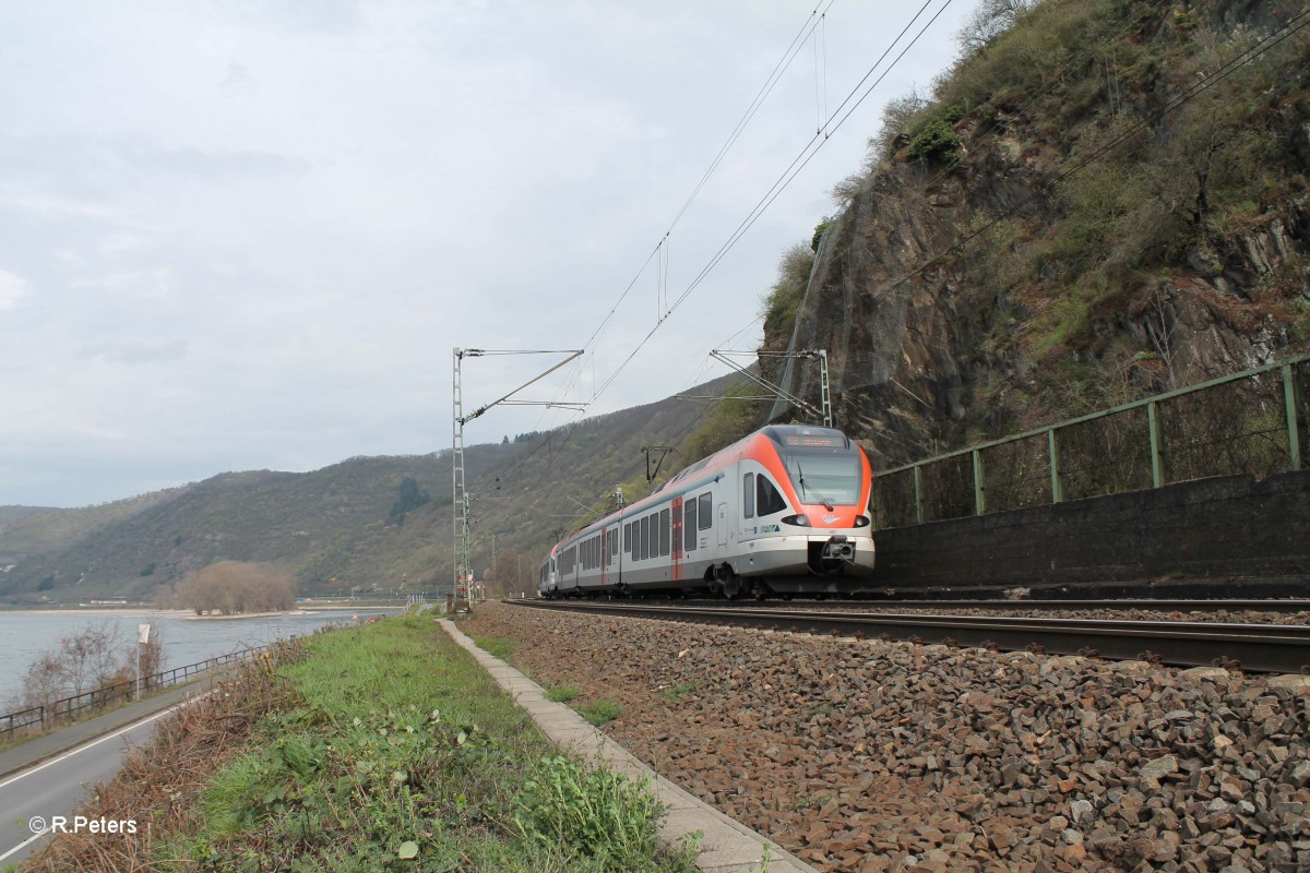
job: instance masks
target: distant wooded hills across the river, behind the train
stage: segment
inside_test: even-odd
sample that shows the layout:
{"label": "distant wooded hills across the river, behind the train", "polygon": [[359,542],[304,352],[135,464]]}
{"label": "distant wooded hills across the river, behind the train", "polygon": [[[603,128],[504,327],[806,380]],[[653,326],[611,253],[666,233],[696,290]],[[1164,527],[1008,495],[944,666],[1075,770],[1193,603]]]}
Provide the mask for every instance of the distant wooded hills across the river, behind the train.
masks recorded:
{"label": "distant wooded hills across the river, behind the train", "polygon": [[[718,380],[700,393],[722,390]],[[645,470],[643,445],[676,444],[703,407],[685,401],[624,410],[567,428],[465,450],[474,497],[473,563],[512,556],[534,579],[578,504],[603,500]],[[643,478],[643,476],[642,476]],[[431,501],[390,518],[413,479]],[[312,472],[252,470],[84,509],[0,507],[0,598],[152,602],[217,560],[292,567],[305,592],[448,586],[451,452],[356,457]],[[506,580],[510,581],[510,580]]]}

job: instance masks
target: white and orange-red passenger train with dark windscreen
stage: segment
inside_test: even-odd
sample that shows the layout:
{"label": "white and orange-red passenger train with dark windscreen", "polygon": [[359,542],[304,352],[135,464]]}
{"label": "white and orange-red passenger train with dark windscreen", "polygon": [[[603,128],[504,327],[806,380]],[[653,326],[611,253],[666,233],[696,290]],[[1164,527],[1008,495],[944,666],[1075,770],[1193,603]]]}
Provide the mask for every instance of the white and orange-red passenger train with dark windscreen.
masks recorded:
{"label": "white and orange-red passenger train with dark windscreen", "polygon": [[874,572],[871,487],[841,431],[765,427],[562,539],[537,592],[849,594]]}

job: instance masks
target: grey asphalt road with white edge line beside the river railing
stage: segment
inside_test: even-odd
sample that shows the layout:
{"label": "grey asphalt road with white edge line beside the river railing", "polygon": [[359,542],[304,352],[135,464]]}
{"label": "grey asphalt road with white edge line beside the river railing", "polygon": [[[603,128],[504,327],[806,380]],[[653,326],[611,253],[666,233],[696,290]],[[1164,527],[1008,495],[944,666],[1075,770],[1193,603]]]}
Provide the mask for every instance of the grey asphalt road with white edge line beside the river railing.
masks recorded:
{"label": "grey asphalt road with white edge line beside the river railing", "polygon": [[[48,842],[55,817],[67,818],[66,827],[72,828],[73,805],[88,796],[89,788],[113,777],[126,753],[149,739],[155,722],[177,705],[0,780],[0,864],[24,859]],[[34,817],[42,822],[33,822]],[[30,825],[45,830],[33,832]],[[103,839],[122,838],[103,834]]]}

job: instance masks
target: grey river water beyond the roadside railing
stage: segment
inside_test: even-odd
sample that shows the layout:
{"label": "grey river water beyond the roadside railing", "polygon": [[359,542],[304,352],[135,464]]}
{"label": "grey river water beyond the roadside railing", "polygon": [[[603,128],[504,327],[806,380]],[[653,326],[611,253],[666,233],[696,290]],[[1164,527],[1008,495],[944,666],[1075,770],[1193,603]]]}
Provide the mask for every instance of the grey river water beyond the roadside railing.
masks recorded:
{"label": "grey river water beyond the roadside railing", "polygon": [[41,652],[59,648],[92,624],[118,624],[124,648],[134,645],[138,624],[148,623],[164,645],[164,668],[185,666],[262,645],[288,636],[310,633],[325,624],[351,624],[355,616],[396,615],[398,610],[320,610],[250,618],[196,619],[182,613],[109,610],[102,613],[33,613],[0,610],[0,713],[13,709],[22,677]]}

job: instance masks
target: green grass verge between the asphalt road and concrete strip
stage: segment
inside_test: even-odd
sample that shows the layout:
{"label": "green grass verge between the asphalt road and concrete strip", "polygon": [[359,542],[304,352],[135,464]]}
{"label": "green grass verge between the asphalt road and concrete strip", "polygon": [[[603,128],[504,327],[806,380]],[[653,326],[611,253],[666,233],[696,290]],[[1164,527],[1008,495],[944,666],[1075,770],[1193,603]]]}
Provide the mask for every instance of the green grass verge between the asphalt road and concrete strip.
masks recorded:
{"label": "green grass verge between the asphalt road and concrete strip", "polygon": [[558,755],[430,618],[304,648],[274,677],[284,705],[173,827],[132,864],[77,869],[694,869],[690,851],[658,849],[663,809],[645,785]]}

